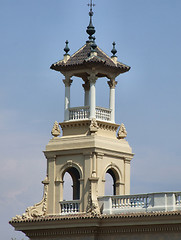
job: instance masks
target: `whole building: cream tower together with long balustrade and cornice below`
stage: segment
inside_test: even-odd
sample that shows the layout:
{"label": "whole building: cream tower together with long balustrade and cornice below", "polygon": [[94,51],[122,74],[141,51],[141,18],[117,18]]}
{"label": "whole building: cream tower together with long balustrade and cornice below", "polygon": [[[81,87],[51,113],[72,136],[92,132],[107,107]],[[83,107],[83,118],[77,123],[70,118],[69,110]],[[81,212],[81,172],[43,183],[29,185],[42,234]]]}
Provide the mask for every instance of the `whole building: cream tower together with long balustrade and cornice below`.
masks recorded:
{"label": "whole building: cream tower together with long balustrade and cornice below", "polygon": [[[66,41],[63,60],[51,65],[64,76],[64,121],[54,123],[53,138],[44,151],[43,199],[10,224],[31,240],[178,240],[181,192],[130,195],[133,153],[125,140],[124,124],[115,123],[116,80],[130,67],[117,60],[115,43],[111,57],[96,45],[92,6],[91,1],[86,44],[70,56]],[[81,107],[71,107],[74,77],[83,83]],[[100,78],[108,79],[108,109],[96,105]],[[72,201],[63,199],[66,172],[73,180]],[[112,176],[114,196],[104,196],[106,173]]]}

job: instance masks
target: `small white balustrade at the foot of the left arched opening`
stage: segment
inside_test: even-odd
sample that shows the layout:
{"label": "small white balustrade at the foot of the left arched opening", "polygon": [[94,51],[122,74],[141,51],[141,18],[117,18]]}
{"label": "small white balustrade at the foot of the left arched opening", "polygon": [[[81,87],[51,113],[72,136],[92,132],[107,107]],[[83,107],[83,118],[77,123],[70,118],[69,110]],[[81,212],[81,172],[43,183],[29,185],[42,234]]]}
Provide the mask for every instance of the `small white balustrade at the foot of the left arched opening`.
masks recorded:
{"label": "small white balustrade at the foot of the left arched opening", "polygon": [[80,211],[80,200],[61,201],[60,208],[62,215],[78,213]]}

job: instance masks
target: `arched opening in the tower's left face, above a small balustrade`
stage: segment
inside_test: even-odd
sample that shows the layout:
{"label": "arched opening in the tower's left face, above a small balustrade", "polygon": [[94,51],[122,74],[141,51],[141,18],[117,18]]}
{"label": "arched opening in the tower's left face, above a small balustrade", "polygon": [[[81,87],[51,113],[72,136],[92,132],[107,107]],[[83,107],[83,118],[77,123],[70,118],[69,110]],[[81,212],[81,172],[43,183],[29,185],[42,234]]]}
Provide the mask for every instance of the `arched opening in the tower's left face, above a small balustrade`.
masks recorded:
{"label": "arched opening in the tower's left face, above a small balustrade", "polygon": [[[80,174],[74,167],[65,170],[63,174],[64,181],[64,200],[78,200],[80,199]],[[68,199],[67,199],[68,198]]]}

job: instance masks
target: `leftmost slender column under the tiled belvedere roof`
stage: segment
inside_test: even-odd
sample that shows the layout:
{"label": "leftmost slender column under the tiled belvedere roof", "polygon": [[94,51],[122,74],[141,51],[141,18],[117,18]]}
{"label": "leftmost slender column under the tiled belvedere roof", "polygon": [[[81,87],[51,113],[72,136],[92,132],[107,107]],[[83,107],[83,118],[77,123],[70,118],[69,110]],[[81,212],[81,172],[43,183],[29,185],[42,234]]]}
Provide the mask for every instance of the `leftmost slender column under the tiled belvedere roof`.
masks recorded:
{"label": "leftmost slender column under the tiled belvedere roof", "polygon": [[64,121],[69,120],[69,108],[70,108],[70,86],[72,83],[72,80],[70,77],[66,77],[65,80],[63,80],[65,84],[65,105],[64,105]]}

